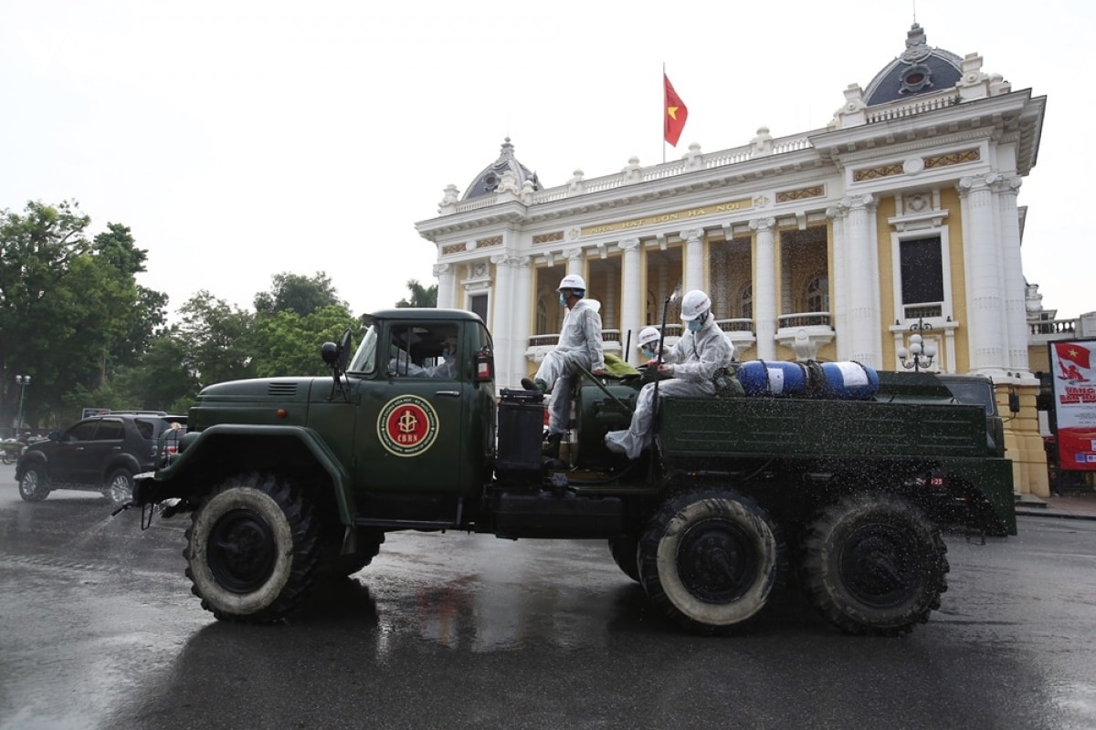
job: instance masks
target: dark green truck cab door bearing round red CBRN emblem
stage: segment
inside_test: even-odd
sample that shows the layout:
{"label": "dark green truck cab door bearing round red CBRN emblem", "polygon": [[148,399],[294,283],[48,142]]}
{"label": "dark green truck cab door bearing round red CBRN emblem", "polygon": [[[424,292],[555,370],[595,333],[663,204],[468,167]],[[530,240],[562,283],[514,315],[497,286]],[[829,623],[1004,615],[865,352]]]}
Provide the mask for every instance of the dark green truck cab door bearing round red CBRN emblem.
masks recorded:
{"label": "dark green truck cab door bearing round red CBRN emblem", "polygon": [[463,493],[470,349],[454,322],[390,323],[377,378],[359,383],[355,482],[378,491]]}

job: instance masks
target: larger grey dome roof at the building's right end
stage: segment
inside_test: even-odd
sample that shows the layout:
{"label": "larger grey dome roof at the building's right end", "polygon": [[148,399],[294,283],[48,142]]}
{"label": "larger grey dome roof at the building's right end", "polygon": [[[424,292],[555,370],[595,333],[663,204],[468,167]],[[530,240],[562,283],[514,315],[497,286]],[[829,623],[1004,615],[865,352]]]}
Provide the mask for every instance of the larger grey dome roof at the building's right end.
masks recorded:
{"label": "larger grey dome roof at the building's right end", "polygon": [[876,74],[864,90],[864,101],[877,106],[951,89],[962,78],[961,60],[949,50],[929,46],[924,28],[914,23],[906,33],[905,50]]}

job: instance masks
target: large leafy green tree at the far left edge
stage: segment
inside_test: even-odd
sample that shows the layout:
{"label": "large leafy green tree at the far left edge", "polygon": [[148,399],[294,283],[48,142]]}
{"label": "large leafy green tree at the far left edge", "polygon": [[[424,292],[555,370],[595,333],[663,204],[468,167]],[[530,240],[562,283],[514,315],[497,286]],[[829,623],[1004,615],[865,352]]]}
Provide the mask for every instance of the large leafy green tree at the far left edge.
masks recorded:
{"label": "large leafy green tree at the far left edge", "polygon": [[110,223],[89,241],[91,219],[75,201],[31,201],[22,213],[0,211],[0,363],[3,415],[15,418],[14,376],[30,374],[24,420],[69,421],[67,393],[102,387],[114,369],[134,362],[167,298],[136,285],[146,252],[129,229]]}

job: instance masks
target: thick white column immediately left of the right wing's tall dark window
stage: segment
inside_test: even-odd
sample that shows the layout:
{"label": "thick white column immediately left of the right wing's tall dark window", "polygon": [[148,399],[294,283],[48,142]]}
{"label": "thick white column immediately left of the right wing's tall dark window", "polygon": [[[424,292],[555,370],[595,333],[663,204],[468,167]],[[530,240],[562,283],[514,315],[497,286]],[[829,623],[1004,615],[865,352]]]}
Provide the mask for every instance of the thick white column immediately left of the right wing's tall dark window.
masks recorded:
{"label": "thick white column immediately left of the right wing's tall dark window", "polygon": [[848,236],[848,359],[872,368],[882,367],[879,333],[879,246],[875,235],[876,199],[870,194],[846,197],[841,201],[847,212]]}

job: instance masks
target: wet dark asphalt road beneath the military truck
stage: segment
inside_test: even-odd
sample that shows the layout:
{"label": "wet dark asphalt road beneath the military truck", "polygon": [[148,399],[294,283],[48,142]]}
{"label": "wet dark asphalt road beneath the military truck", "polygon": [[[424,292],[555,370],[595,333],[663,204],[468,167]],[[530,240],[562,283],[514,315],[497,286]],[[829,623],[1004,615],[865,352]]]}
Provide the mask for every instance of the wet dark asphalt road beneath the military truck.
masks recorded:
{"label": "wet dark asphalt road beneath the military truck", "polygon": [[652,616],[602,541],[389,535],[274,627],[183,576],[184,519],[20,500],[0,466],[0,730],[1093,728],[1096,522],[949,536],[950,590],[907,637],[847,637],[796,595],[740,635]]}

